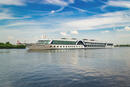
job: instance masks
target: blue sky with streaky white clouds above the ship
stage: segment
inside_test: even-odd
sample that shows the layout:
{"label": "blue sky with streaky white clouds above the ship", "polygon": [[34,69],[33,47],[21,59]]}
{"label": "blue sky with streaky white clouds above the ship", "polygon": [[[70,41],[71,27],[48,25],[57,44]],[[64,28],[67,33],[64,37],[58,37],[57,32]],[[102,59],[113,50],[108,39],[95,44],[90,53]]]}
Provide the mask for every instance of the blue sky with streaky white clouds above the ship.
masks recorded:
{"label": "blue sky with streaky white clouds above the ship", "polygon": [[130,0],[1,0],[0,42],[75,37],[130,44]]}

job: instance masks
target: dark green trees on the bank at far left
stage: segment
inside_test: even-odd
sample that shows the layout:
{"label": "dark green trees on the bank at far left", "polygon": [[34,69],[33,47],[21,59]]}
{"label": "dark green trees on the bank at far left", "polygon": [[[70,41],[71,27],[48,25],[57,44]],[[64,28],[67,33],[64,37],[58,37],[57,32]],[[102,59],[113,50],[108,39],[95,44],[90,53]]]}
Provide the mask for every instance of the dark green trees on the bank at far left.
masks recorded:
{"label": "dark green trees on the bank at far left", "polygon": [[11,44],[10,42],[6,42],[6,43],[1,43],[0,42],[0,49],[13,49],[13,48],[24,49],[25,47],[26,46],[23,45],[23,44],[14,45],[14,44]]}

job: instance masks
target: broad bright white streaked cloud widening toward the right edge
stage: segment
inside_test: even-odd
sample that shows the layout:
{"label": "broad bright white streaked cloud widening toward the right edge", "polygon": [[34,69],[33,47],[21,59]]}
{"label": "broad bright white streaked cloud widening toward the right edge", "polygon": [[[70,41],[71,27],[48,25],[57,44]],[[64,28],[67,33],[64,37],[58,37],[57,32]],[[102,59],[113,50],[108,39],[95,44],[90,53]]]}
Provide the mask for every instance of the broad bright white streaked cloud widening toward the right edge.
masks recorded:
{"label": "broad bright white streaked cloud widening toward the right edge", "polygon": [[[129,11],[110,12],[63,23],[71,29],[90,30],[130,25]],[[127,16],[126,16],[127,15]]]}

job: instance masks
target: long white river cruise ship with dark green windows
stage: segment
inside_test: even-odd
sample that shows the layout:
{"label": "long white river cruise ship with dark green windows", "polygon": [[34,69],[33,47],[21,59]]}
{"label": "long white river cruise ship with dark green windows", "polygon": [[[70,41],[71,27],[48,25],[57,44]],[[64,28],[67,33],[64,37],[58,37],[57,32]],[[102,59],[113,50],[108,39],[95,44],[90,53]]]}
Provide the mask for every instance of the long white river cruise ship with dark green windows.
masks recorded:
{"label": "long white river cruise ship with dark green windows", "polygon": [[75,38],[67,39],[41,39],[37,43],[27,44],[27,49],[88,49],[88,48],[113,48],[113,43]]}

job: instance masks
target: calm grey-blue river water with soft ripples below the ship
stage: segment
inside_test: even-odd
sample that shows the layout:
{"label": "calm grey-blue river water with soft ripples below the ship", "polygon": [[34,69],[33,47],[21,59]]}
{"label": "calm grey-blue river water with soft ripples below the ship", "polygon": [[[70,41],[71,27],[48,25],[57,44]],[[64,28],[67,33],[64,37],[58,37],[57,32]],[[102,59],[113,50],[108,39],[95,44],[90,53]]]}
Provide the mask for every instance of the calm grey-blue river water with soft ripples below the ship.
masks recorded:
{"label": "calm grey-blue river water with soft ripples below the ship", "polygon": [[1,49],[0,87],[130,87],[130,48]]}

